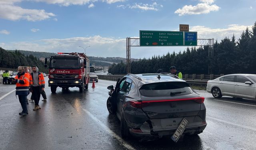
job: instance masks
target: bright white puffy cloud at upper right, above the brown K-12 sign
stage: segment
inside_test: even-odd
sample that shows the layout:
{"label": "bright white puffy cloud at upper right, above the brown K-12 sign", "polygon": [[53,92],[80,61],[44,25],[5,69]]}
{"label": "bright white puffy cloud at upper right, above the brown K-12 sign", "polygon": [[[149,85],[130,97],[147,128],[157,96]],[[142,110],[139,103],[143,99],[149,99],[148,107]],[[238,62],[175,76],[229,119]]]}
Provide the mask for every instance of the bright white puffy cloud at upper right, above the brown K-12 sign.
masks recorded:
{"label": "bright white puffy cloud at upper right, above the brown K-12 sign", "polygon": [[179,14],[179,16],[183,15],[192,15],[192,14],[207,14],[211,11],[218,11],[220,9],[219,6],[217,5],[210,5],[214,2],[214,0],[200,0],[200,2],[203,3],[198,3],[196,6],[192,5],[185,5],[181,9],[179,8],[176,10],[174,13]]}

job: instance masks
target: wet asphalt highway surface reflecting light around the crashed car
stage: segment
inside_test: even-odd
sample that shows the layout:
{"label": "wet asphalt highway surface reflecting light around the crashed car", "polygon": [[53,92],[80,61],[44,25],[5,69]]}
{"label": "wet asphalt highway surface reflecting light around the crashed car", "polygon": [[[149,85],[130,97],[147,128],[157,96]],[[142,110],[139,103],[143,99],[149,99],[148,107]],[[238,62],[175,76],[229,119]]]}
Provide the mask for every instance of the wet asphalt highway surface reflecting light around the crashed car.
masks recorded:
{"label": "wet asphalt highway surface reflecting light around the crashed car", "polygon": [[[48,80],[48,77],[46,77]],[[79,93],[78,88],[51,94],[46,86],[47,102],[42,109],[19,116],[21,106],[15,97],[15,85],[0,83],[0,149],[1,150],[255,150],[256,101],[224,96],[215,99],[198,90],[206,99],[207,126],[198,136],[184,136],[178,143],[170,138],[150,142],[120,138],[120,122],[108,114],[108,85],[114,81],[99,80],[96,88]],[[30,94],[31,95],[31,94]],[[28,98],[30,98],[30,95]]]}

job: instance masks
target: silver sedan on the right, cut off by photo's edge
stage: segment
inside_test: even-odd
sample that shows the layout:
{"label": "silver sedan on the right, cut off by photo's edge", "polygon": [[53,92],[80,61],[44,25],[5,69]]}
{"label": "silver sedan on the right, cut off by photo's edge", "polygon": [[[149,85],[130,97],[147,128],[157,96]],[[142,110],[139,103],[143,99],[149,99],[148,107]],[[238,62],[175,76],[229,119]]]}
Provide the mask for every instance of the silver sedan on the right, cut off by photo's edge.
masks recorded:
{"label": "silver sedan on the right, cut off by photo's edge", "polygon": [[256,99],[256,74],[228,74],[207,82],[206,90],[214,98],[232,96]]}

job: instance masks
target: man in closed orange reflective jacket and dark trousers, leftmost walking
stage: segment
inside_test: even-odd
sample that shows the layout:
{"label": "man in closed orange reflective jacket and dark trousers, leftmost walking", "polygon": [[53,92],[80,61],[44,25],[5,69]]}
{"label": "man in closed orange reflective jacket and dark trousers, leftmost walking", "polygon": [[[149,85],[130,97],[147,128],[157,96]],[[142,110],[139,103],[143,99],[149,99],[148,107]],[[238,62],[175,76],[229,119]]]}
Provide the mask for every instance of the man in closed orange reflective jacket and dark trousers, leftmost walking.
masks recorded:
{"label": "man in closed orange reflective jacket and dark trousers, leftmost walking", "polygon": [[19,113],[21,116],[28,114],[26,96],[29,91],[29,74],[24,72],[24,68],[18,67],[18,74],[12,79],[12,82],[16,83],[16,95],[19,97],[19,101],[22,107],[22,112]]}

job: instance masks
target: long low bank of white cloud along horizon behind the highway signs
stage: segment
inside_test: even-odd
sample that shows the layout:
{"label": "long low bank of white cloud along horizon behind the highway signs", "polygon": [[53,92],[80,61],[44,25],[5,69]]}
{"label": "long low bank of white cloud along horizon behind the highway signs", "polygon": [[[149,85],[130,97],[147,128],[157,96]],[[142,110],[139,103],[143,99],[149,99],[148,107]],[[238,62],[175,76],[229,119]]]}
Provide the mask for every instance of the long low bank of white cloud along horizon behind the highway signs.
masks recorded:
{"label": "long low bank of white cloud along horizon behind the highway signs", "polygon": [[[243,30],[248,27],[250,30],[252,26],[241,26],[237,24],[231,24],[226,28],[209,28],[206,26],[190,26],[190,31],[198,32],[198,38],[214,38],[218,39],[218,42],[225,37],[231,38],[234,35],[236,39],[240,38]],[[139,37],[133,37],[139,38]],[[32,42],[12,42],[0,44],[2,48],[8,50],[30,50],[38,52],[84,52],[83,48],[78,46],[89,46],[86,48],[86,54],[89,56],[101,56],[101,57],[123,57],[126,58],[126,39],[125,38],[113,38],[88,36],[88,37],[73,37],[64,39],[43,39]],[[179,52],[185,50],[186,47],[132,47],[131,58],[151,58],[156,55],[162,56],[168,51]],[[146,51],[146,53],[145,53]]]}

